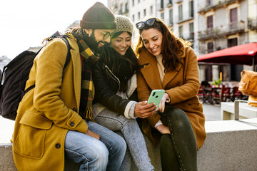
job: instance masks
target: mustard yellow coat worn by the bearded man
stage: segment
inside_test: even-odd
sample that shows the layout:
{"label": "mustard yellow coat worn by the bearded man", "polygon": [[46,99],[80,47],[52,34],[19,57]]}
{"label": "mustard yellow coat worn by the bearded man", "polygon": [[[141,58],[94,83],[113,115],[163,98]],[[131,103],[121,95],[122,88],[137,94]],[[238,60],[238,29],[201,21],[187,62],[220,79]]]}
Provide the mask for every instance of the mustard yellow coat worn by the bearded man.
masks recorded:
{"label": "mustard yellow coat worn by the bearded man", "polygon": [[68,130],[86,133],[88,125],[76,112],[81,94],[79,46],[69,39],[71,60],[64,68],[67,47],[61,38],[47,43],[34,60],[21,100],[13,134],[18,170],[64,170],[64,140]]}

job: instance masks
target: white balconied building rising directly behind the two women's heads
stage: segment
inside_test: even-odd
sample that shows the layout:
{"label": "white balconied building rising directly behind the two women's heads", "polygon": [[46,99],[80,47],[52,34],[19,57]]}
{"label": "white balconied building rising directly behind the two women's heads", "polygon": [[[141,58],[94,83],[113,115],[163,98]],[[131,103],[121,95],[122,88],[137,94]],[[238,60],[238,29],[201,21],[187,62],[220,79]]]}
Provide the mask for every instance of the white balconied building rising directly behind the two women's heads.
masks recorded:
{"label": "white balconied building rising directly behind the two women's heads", "polygon": [[[197,53],[198,30],[197,2],[193,0],[109,0],[108,6],[114,14],[128,16],[134,26],[148,17],[162,19],[176,36],[192,43]],[[133,33],[133,45],[138,41],[138,31]]]}

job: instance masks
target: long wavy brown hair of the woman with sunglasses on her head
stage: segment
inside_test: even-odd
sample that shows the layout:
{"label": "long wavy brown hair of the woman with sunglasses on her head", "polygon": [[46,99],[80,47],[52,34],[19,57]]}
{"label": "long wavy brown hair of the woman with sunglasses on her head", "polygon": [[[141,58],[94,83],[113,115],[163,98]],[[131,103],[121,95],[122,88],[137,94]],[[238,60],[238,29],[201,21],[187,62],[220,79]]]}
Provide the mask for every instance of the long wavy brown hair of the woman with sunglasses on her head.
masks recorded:
{"label": "long wavy brown hair of the woman with sunglasses on her head", "polygon": [[[150,28],[156,28],[158,31],[160,31],[163,34],[163,39],[161,43],[161,54],[163,56],[163,66],[166,71],[172,71],[176,69],[176,66],[178,66],[179,63],[182,63],[180,58],[180,53],[183,53],[181,48],[183,46],[190,46],[189,42],[183,41],[182,38],[177,38],[166,26],[166,24],[161,21],[160,19],[156,18],[156,21],[152,26],[146,26],[144,24],[143,28],[139,30],[139,33],[141,35],[143,30],[148,30]],[[143,45],[143,40],[141,36],[139,36],[138,43],[136,45],[136,56],[139,56],[142,49],[146,49]]]}

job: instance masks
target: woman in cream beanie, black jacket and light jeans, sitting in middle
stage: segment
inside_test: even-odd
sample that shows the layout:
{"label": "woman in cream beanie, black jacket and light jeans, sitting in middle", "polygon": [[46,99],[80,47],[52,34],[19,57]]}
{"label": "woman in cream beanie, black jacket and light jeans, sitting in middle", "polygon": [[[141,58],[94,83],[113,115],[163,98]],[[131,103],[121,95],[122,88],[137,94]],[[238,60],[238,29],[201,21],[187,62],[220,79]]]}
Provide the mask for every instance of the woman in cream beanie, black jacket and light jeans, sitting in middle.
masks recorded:
{"label": "woman in cream beanie, black jacket and light jeans, sitting in middle", "polygon": [[[136,118],[152,115],[156,105],[137,102],[138,60],[131,48],[133,24],[126,16],[115,16],[115,21],[117,28],[112,33],[111,43],[104,47],[101,60],[92,73],[96,88],[94,120],[123,134],[138,170],[153,170]],[[129,160],[126,155],[121,170],[130,170]]]}

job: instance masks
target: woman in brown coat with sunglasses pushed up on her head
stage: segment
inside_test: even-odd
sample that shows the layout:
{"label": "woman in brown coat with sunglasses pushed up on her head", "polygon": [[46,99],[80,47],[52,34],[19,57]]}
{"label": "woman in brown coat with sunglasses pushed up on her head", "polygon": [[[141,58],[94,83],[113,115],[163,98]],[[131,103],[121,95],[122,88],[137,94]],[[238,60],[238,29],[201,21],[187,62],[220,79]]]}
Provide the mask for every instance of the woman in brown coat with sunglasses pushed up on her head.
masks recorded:
{"label": "woman in brown coat with sunglasses pushed up on her head", "polygon": [[136,28],[141,36],[136,46],[138,100],[147,100],[151,90],[165,90],[158,113],[142,120],[143,132],[155,144],[161,136],[163,170],[197,170],[197,150],[206,138],[197,56],[157,18]]}

